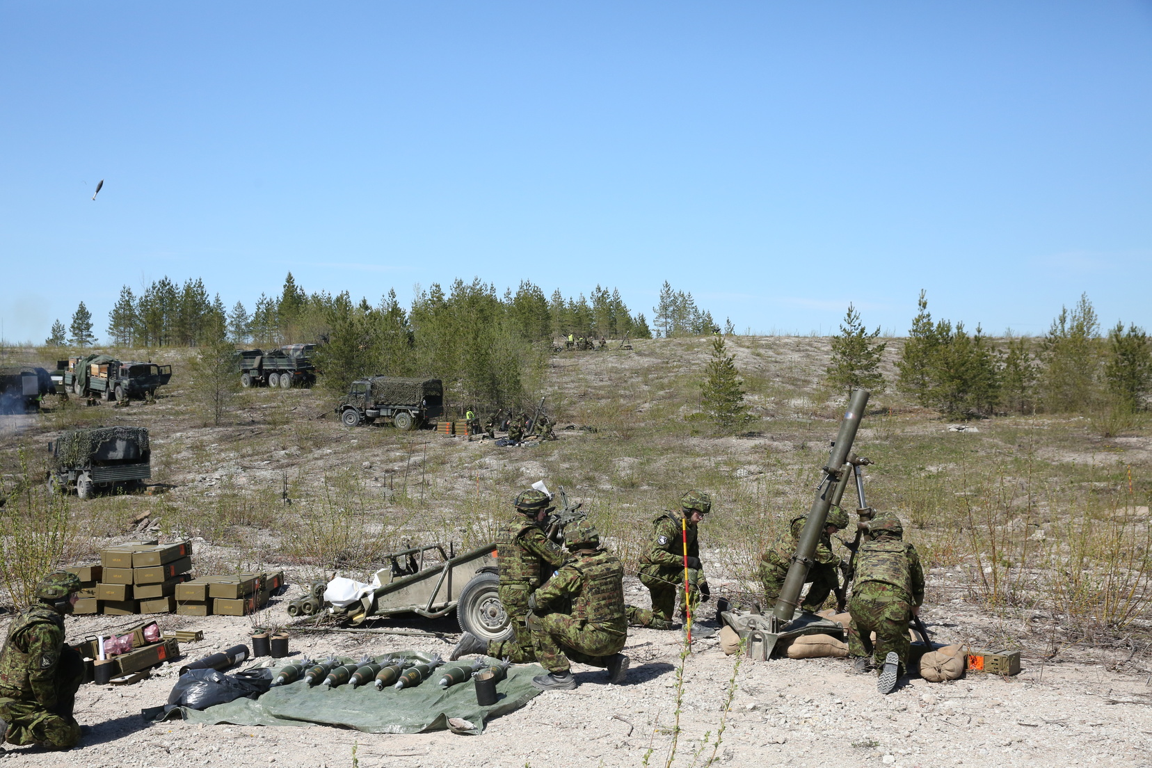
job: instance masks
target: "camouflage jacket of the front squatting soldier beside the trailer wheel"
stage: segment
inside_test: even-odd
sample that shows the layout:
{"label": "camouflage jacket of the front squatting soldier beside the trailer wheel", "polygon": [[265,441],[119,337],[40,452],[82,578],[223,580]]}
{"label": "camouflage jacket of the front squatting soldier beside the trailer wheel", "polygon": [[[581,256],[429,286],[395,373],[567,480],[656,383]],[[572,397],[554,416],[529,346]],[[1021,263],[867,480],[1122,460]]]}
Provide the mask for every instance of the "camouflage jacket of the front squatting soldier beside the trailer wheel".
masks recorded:
{"label": "camouflage jacket of the front squatting soldier beside the trailer wheel", "polygon": [[607,549],[583,550],[536,591],[541,611],[564,600],[588,624],[624,634],[624,567]]}

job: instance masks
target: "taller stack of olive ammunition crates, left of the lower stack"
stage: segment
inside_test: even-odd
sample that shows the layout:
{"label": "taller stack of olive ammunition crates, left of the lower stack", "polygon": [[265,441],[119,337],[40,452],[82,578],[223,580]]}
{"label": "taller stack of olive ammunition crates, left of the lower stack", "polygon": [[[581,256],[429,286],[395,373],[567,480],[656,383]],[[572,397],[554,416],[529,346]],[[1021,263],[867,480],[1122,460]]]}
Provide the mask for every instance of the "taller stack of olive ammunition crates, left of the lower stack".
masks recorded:
{"label": "taller stack of olive ammunition crates, left of the lower stack", "polygon": [[170,614],[176,609],[176,586],[191,578],[192,546],[127,543],[100,552],[99,565],[66,570],[83,583],[77,614]]}

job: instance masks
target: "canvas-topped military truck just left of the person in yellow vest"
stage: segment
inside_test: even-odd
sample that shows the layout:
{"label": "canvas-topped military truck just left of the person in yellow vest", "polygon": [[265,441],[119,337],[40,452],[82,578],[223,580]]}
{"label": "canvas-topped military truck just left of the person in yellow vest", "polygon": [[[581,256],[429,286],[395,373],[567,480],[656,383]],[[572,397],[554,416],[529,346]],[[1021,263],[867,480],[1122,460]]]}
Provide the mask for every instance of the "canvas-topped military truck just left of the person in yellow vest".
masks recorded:
{"label": "canvas-topped military truck just left of the person in yellow vest", "polygon": [[392,419],[397,428],[415,429],[444,415],[444,385],[439,379],[374,375],[357,379],[336,405],[347,426]]}

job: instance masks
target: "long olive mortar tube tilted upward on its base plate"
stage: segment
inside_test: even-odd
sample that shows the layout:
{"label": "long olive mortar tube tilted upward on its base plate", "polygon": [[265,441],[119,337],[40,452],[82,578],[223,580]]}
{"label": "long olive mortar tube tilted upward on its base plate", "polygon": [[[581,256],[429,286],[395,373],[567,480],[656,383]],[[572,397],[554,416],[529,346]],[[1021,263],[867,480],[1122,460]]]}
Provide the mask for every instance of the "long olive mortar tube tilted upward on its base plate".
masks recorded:
{"label": "long olive mortar tube tilted upward on its base plate", "polygon": [[804,522],[804,530],[801,531],[799,541],[796,545],[796,554],[793,555],[791,565],[788,567],[788,576],[785,577],[780,596],[772,610],[778,626],[790,622],[796,613],[799,593],[804,588],[808,571],[812,565],[812,555],[816,553],[825,522],[828,519],[828,510],[832,509],[836,491],[839,489],[842,495],[844,486],[847,486],[848,466],[846,462],[851,453],[852,442],[856,440],[856,432],[859,429],[870,394],[867,389],[854,389],[848,402],[848,411],[840,423],[836,442],[828,455],[828,463],[824,466],[825,477],[817,488],[816,499],[812,501],[808,520]]}

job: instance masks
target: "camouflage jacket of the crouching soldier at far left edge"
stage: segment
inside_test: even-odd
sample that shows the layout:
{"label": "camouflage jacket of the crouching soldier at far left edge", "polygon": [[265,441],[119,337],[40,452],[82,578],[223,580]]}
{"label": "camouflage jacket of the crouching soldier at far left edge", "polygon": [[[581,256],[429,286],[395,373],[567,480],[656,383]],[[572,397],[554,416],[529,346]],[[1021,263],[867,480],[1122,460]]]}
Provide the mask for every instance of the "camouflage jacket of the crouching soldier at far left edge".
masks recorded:
{"label": "camouflage jacket of the crouching soldier at far left edge", "polygon": [[0,695],[54,707],[56,664],[63,644],[63,616],[44,604],[22,611],[0,651]]}

